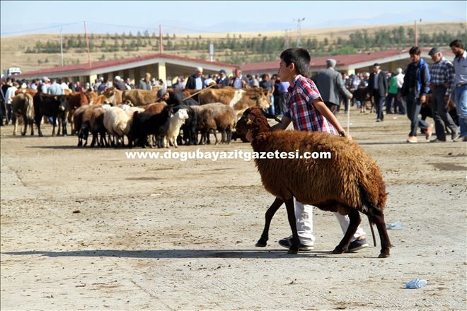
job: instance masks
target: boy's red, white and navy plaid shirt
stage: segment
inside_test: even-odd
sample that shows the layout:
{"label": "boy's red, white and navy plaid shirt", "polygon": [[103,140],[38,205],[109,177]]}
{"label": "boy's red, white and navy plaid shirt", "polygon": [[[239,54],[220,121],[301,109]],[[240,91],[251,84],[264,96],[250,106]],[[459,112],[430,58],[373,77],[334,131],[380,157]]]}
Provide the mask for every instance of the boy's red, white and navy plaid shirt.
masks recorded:
{"label": "boy's red, white and navy plaid shirt", "polygon": [[[287,93],[287,112],[294,129],[300,131],[323,131],[337,135],[338,131],[313,105],[313,100],[321,99],[321,94],[311,79],[298,75],[289,86]],[[322,99],[321,99],[322,100]]]}

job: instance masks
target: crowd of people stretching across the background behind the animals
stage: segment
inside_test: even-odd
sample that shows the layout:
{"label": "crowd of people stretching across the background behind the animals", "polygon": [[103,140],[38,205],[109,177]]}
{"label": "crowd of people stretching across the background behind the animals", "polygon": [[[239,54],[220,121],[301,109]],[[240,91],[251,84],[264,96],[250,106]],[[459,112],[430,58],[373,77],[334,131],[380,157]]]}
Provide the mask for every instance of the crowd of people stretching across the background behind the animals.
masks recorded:
{"label": "crowd of people stretching across the background behind the animals", "polygon": [[[442,56],[439,47],[431,49],[429,55],[434,64],[429,69],[426,61],[420,57],[420,48],[413,47],[409,52],[411,62],[405,70],[405,74],[401,68],[396,69],[396,72],[393,73],[381,71],[380,64],[374,64],[372,72],[360,71],[350,75],[340,74],[334,69],[335,59],[328,59],[326,69],[311,76],[311,80],[316,83],[325,105],[334,115],[341,109],[347,112],[354,105],[357,105],[358,108],[364,105],[362,96],[354,96],[360,90],[359,93],[367,93],[371,98],[376,110],[376,122],[384,122],[384,115],[388,114],[408,115],[411,122],[410,134],[407,139],[409,143],[417,142],[417,128],[421,129],[427,139],[432,136],[435,129],[437,139],[432,141],[446,141],[445,127],[451,131],[453,141],[467,141],[465,117],[467,112],[463,103],[466,101],[466,95],[463,95],[463,92],[455,93],[456,85],[465,86],[467,82],[462,73],[465,71],[465,66],[462,65],[466,59],[463,56],[465,50],[459,40],[451,43],[451,49],[457,59],[454,64]],[[455,66],[456,64],[458,66]],[[457,68],[456,71],[454,71],[454,67]],[[171,88],[202,90],[212,85],[233,88],[263,88],[270,93],[271,105],[268,113],[282,116],[287,111],[289,82],[281,81],[277,74],[243,75],[241,69],[236,68],[231,76],[227,76],[224,69],[221,69],[218,74],[204,75],[203,69],[197,67],[195,73],[187,78],[184,76],[174,78]],[[73,81],[72,78],[51,80],[44,77],[33,81],[15,81],[14,77],[2,78],[0,98],[6,105],[1,105],[1,124],[4,124],[4,118],[6,118],[6,122],[11,122],[11,99],[18,88],[32,88],[42,93],[61,95],[66,90],[102,92],[108,87],[122,91],[134,88],[143,90],[153,90],[154,88],[166,90],[168,88],[165,81],[151,78],[149,73],[146,73],[136,83],[132,78],[124,79],[115,76],[112,81],[105,81],[103,77],[100,77],[92,83],[86,82],[84,85],[80,81]],[[427,100],[428,98],[429,100]],[[447,113],[449,100],[458,103],[456,109],[459,115],[460,132],[451,115]],[[431,108],[434,125],[428,124],[425,117],[420,119],[420,110],[424,105]]]}

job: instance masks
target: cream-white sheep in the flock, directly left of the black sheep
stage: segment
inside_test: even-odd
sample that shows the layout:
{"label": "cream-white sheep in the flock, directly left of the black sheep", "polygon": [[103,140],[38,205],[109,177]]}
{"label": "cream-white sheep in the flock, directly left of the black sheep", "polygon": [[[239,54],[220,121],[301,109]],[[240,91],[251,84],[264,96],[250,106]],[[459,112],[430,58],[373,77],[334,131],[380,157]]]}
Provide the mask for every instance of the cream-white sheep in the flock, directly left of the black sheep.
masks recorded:
{"label": "cream-white sheep in the flock, directly left of the black sheep", "polygon": [[125,146],[123,136],[128,134],[131,117],[120,107],[110,107],[104,112],[104,127],[108,133],[115,137],[116,141],[111,141],[112,146]]}

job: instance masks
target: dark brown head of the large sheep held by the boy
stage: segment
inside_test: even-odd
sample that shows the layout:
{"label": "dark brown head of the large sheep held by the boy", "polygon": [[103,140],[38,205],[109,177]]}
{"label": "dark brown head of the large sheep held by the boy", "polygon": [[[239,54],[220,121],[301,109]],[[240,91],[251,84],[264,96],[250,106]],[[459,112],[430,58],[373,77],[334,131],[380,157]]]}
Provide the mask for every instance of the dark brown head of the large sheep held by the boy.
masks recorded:
{"label": "dark brown head of the large sheep held by the boy", "polygon": [[246,135],[248,141],[253,141],[258,134],[270,131],[267,118],[275,119],[277,122],[280,122],[277,117],[267,114],[260,107],[250,107],[243,112],[242,117],[237,122],[235,130],[238,134]]}

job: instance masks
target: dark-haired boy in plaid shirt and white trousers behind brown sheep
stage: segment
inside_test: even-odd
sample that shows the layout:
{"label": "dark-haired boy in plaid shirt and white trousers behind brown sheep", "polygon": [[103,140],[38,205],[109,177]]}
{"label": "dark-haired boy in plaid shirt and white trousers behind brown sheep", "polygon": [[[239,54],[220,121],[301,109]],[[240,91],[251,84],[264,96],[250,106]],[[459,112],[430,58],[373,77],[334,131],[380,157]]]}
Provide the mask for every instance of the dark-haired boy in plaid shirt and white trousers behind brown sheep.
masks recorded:
{"label": "dark-haired boy in plaid shirt and white trousers behind brown sheep", "polygon": [[[272,130],[287,129],[290,122],[293,122],[294,129],[300,131],[323,131],[333,135],[339,133],[340,136],[352,139],[340,126],[338,119],[326,107],[313,81],[304,76],[309,71],[311,61],[309,52],[302,48],[286,49],[280,55],[280,59],[280,81],[287,81],[290,86],[287,93],[287,111],[284,113],[282,123],[273,126]],[[313,206],[294,201],[296,229],[300,240],[299,250],[313,250],[315,241],[313,236]],[[350,223],[349,217],[342,216],[340,213],[334,214],[338,218],[340,228],[345,233]],[[292,236],[279,240],[279,245],[289,248],[292,245]],[[359,227],[352,237],[348,251],[355,252],[367,246],[365,233]]]}

